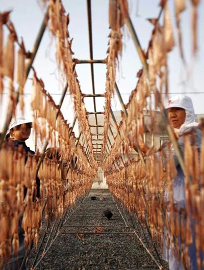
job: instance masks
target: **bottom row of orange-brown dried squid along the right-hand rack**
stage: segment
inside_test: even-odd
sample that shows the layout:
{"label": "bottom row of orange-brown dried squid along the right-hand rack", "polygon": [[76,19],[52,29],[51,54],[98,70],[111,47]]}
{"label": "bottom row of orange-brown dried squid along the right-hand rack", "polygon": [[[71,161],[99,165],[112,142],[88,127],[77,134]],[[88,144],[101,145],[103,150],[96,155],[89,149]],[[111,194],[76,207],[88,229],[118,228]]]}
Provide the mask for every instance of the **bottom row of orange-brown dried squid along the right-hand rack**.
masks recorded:
{"label": "bottom row of orange-brown dried squid along the right-hand rack", "polygon": [[[204,137],[202,137],[203,144]],[[147,213],[147,224],[152,238],[157,237],[160,246],[163,244],[163,226],[166,232],[171,232],[169,244],[176,251],[176,256],[185,265],[190,267],[188,256],[188,246],[192,244],[192,220],[194,220],[194,233],[196,244],[197,265],[201,267],[199,252],[203,251],[203,217],[202,201],[203,186],[200,190],[200,167],[202,166],[198,158],[198,150],[195,144],[190,142],[190,136],[186,137],[185,144],[185,164],[187,170],[185,194],[187,206],[179,211],[173,202],[172,179],[176,175],[176,169],[169,147],[168,155],[161,150],[159,153],[150,152],[146,156],[145,167],[141,160],[127,160],[125,165],[114,166],[114,159],[105,168],[107,184],[114,197],[121,201],[127,210],[136,213],[138,221],[144,223],[145,213]],[[110,154],[111,156],[111,154]],[[117,153],[115,154],[117,156]],[[165,173],[162,160],[165,160]],[[203,160],[203,152],[200,155]],[[193,160],[193,162],[192,162]],[[119,159],[118,159],[119,161]],[[164,201],[164,182],[169,193],[170,201]],[[168,213],[168,215],[167,215]],[[181,224],[180,224],[181,222]],[[180,240],[182,245],[180,247]]]}

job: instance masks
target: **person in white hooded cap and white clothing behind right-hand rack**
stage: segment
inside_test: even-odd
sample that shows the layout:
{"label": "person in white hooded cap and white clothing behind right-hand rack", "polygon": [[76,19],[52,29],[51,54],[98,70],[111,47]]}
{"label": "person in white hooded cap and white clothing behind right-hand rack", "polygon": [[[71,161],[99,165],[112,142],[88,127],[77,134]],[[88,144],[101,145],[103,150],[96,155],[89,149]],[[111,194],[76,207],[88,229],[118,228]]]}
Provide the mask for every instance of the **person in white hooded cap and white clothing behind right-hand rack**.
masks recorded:
{"label": "person in white hooded cap and white clothing behind right-hand rack", "polygon": [[[186,132],[190,132],[192,129],[195,131],[195,143],[198,149],[201,146],[201,130],[199,129],[199,123],[195,122],[195,113],[193,103],[190,97],[187,95],[177,95],[169,99],[167,107],[167,116],[170,125],[172,126],[175,137],[177,139],[177,143],[180,146],[182,155],[184,156],[184,137],[183,135]],[[143,152],[147,152],[149,150],[148,146],[144,144],[143,141],[139,140],[139,146]],[[137,147],[135,147],[137,149]],[[179,159],[177,158],[175,151],[172,147],[172,153],[174,158],[174,163],[177,170],[177,175],[173,179],[173,203],[176,208],[179,210],[185,209],[186,204],[186,196],[185,196],[185,176],[182,171],[182,168],[179,163]],[[165,164],[164,164],[165,166]],[[170,196],[165,191],[164,196],[165,202],[168,204],[170,201]],[[167,212],[168,214],[169,212]],[[196,263],[196,248],[195,248],[195,235],[194,235],[194,221],[191,219],[191,234],[193,242],[188,246],[189,257],[190,257],[190,269],[197,270]],[[169,233],[170,237],[170,233]],[[179,240],[180,241],[180,240]],[[167,239],[164,235],[164,245],[163,245],[163,256],[162,258],[168,262],[170,270],[182,270],[185,269],[185,266],[182,265],[182,262],[177,259],[175,256],[175,251],[173,252],[171,245],[167,244]],[[201,251],[199,252],[199,256],[202,260],[203,254]],[[201,268],[203,269],[203,267]]]}

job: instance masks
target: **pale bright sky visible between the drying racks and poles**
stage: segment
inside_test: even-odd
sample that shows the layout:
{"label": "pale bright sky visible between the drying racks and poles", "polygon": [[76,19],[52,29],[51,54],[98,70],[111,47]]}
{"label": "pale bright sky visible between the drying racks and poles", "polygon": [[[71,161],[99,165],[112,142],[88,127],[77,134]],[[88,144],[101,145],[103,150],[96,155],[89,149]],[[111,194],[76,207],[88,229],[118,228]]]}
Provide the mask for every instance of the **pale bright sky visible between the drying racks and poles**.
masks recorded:
{"label": "pale bright sky visible between the drying racks and poles", "polygon": [[[70,15],[70,23],[68,26],[70,37],[73,38],[72,50],[74,58],[89,59],[89,43],[88,43],[88,23],[86,0],[62,1],[64,7]],[[169,0],[169,8],[172,15],[172,23],[175,26],[173,0]],[[146,18],[157,17],[160,8],[157,0],[138,0],[129,1],[130,15],[138,34],[142,48],[146,50],[148,41],[152,31],[152,25]],[[190,1],[187,1],[187,10],[182,14],[182,33],[185,47],[185,56],[188,65],[184,67],[180,59],[177,46],[169,53],[169,92],[170,93],[192,93],[202,92],[200,94],[189,94],[193,99],[196,113],[204,113],[204,49],[202,47],[204,40],[203,18],[204,18],[204,1],[201,0],[198,13],[198,53],[195,59],[191,53],[191,14]],[[108,0],[92,0],[92,29],[93,29],[93,56],[94,59],[104,59],[107,57],[106,50],[108,48],[108,35],[110,33],[108,22]],[[137,8],[138,7],[138,8]],[[12,10],[11,20],[13,21],[18,37],[23,37],[25,47],[29,50],[32,48],[37,36],[45,9],[41,1],[37,0],[2,0],[1,11]],[[162,18],[161,18],[162,22]],[[175,27],[174,27],[175,30]],[[175,40],[177,40],[176,30],[174,31]],[[122,59],[119,61],[120,67],[117,72],[117,84],[122,98],[126,103],[129,94],[135,88],[137,78],[136,74],[142,67],[138,58],[137,51],[133,41],[126,28],[123,29],[123,53]],[[55,39],[47,30],[43,36],[39,51],[37,53],[34,68],[39,77],[45,83],[45,89],[48,90],[56,101],[60,100],[60,94],[64,83],[57,70],[55,60]],[[91,93],[91,73],[90,65],[81,64],[76,67],[80,80],[81,90],[83,93]],[[96,93],[105,92],[106,65],[95,64],[95,91]],[[32,78],[30,73],[29,78]],[[25,114],[31,114],[29,108],[29,99],[31,93],[31,79],[25,86],[25,101],[27,107]],[[170,95],[171,96],[171,95]],[[85,104],[89,111],[93,111],[92,98],[86,98]],[[104,98],[96,98],[97,111],[103,111]],[[120,110],[117,97],[112,102],[113,110]],[[1,106],[2,118],[5,107]],[[72,122],[73,110],[72,102],[69,95],[66,96],[62,106],[62,112],[68,122]],[[2,124],[3,121],[1,121]]]}

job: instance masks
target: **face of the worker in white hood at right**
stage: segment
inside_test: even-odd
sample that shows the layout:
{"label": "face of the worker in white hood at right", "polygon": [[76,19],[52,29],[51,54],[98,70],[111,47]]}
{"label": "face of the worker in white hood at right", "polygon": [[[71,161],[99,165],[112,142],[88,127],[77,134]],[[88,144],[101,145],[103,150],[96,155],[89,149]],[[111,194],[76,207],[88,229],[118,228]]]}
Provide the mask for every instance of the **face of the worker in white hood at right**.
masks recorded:
{"label": "face of the worker in white hood at right", "polygon": [[167,109],[168,119],[172,127],[180,128],[185,122],[186,112],[184,109],[179,107],[172,107]]}

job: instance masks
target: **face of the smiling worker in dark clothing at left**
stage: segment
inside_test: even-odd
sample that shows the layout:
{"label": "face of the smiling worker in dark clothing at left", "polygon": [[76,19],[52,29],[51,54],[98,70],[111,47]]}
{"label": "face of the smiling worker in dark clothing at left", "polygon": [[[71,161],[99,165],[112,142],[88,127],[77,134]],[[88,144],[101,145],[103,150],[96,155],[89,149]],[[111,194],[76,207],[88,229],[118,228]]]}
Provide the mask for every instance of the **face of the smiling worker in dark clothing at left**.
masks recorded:
{"label": "face of the smiling worker in dark clothing at left", "polygon": [[29,139],[31,127],[31,123],[18,125],[10,131],[11,137],[16,141],[24,142]]}

